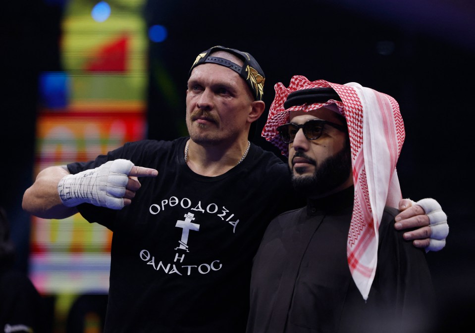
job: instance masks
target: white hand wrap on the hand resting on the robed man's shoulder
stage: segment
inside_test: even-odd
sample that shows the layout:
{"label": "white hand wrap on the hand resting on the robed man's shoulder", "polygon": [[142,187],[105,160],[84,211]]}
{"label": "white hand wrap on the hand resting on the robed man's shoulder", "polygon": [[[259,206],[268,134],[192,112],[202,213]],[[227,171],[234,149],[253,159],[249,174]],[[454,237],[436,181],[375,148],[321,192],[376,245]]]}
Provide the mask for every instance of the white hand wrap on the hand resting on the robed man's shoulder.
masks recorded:
{"label": "white hand wrap on the hand resting on the robed man's shoulder", "polygon": [[414,202],[420,205],[429,217],[429,225],[431,229],[430,244],[426,247],[426,251],[438,251],[445,246],[445,238],[449,235],[449,225],[447,224],[447,215],[443,212],[440,204],[432,199],[425,198]]}

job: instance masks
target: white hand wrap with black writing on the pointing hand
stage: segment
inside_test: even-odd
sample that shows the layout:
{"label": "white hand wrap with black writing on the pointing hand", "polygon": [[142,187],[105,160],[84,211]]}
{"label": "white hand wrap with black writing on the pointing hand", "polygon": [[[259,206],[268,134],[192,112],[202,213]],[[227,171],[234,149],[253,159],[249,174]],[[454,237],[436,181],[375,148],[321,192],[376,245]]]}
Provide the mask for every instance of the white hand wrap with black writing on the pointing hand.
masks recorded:
{"label": "white hand wrap with black writing on the pointing hand", "polygon": [[134,163],[126,159],[108,161],[91,170],[67,175],[58,183],[58,194],[66,207],[88,202],[111,209],[124,207],[123,196]]}

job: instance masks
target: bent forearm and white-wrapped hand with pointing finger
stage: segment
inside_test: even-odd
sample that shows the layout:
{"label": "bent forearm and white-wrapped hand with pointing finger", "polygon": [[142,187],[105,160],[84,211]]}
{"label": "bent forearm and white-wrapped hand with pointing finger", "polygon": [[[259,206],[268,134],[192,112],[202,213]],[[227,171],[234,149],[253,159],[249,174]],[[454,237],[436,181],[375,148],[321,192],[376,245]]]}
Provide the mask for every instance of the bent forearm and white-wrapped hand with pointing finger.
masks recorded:
{"label": "bent forearm and white-wrapped hand with pointing finger", "polygon": [[122,209],[131,203],[140,188],[137,177],[156,177],[155,169],[134,166],[116,159],[71,175],[63,166],[41,171],[23,195],[23,209],[46,219],[63,219],[77,212],[82,203]]}

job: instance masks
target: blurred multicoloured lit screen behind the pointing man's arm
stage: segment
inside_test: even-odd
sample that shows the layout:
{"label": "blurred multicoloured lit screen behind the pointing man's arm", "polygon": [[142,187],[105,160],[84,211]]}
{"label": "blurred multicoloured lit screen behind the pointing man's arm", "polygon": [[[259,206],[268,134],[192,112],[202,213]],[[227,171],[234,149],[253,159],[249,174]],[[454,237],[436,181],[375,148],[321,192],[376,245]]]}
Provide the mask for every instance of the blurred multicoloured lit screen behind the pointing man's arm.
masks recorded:
{"label": "blurred multicoloured lit screen behind the pointing man's arm", "polygon": [[[61,71],[40,75],[34,175],[146,138],[144,0],[66,2]],[[107,293],[111,232],[80,214],[32,218],[29,274],[43,294]]]}

